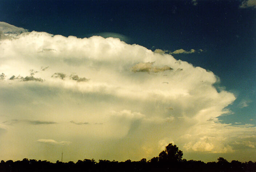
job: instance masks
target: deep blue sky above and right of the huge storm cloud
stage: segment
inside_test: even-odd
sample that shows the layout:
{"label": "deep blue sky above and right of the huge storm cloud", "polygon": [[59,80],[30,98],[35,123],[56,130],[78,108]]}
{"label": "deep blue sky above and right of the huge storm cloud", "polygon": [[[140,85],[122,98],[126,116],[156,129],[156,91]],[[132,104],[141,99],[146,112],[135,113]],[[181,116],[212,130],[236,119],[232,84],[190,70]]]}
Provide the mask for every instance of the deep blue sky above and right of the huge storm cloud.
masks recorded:
{"label": "deep blue sky above and right of the huge storm cloud", "polygon": [[[148,49],[204,50],[174,54],[212,71],[235,93],[224,123],[256,123],[256,8],[242,1],[0,1],[0,21],[80,38],[111,32]],[[239,103],[247,102],[241,108]],[[250,120],[251,119],[251,120]]]}

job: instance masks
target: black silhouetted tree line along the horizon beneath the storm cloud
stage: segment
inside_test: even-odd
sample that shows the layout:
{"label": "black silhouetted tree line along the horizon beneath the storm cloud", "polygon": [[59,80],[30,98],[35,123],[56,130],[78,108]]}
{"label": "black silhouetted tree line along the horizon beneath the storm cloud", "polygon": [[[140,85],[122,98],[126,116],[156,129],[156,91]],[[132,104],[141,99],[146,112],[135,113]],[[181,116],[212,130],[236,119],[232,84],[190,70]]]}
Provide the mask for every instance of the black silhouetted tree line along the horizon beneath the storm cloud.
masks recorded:
{"label": "black silhouetted tree line along the horizon beneath the storm cloud", "polygon": [[100,159],[78,160],[76,163],[69,161],[63,163],[59,160],[56,163],[27,158],[13,162],[12,160],[1,160],[0,172],[256,172],[256,162],[248,161],[241,163],[236,160],[228,162],[223,157],[217,162],[204,163],[203,161],[182,159],[183,152],[172,143],[160,152],[159,156],[150,160],[145,158],[139,161],[130,159],[122,162]]}

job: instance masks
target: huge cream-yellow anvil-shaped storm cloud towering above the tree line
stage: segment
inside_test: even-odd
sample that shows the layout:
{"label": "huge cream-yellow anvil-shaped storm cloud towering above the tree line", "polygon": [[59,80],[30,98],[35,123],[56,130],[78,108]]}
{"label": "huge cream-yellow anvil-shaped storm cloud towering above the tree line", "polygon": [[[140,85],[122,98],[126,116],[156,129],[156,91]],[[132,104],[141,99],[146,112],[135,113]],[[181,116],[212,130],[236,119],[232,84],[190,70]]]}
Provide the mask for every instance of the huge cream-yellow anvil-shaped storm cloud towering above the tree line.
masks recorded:
{"label": "huge cream-yellow anvil-shaped storm cloud towering above the tree line", "polygon": [[[0,51],[0,122],[56,121],[1,123],[8,132],[0,133],[0,159],[22,154],[56,161],[61,150],[39,144],[59,143],[55,140],[72,143],[66,156],[73,161],[85,155],[152,158],[168,142],[177,144],[184,158],[189,152],[229,153],[232,159],[240,158],[241,149],[255,153],[255,126],[217,120],[229,113],[233,93],[213,87],[218,80],[213,72],[170,54],[118,38],[35,31],[1,39]],[[196,155],[191,158],[199,159]]]}

